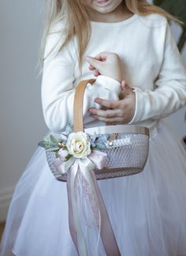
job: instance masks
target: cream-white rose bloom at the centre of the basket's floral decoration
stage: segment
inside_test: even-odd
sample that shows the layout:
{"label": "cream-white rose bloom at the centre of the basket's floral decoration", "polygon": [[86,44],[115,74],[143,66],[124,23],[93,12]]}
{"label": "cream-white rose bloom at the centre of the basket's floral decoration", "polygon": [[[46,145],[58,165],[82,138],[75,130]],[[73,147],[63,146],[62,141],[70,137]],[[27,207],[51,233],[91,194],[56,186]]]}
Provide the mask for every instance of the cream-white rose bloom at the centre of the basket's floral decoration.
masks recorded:
{"label": "cream-white rose bloom at the centre of the basket's floral decoration", "polygon": [[66,147],[69,154],[76,158],[85,158],[91,153],[91,141],[87,134],[81,131],[69,134]]}

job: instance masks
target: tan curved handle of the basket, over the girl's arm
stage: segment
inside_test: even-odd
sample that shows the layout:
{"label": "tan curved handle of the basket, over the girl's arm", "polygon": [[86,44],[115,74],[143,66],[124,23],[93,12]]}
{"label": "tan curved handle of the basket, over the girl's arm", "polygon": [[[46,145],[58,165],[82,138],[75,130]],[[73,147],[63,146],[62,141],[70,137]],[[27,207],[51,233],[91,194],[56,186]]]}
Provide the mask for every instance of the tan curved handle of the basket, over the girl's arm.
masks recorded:
{"label": "tan curved handle of the basket, over the girl's arm", "polygon": [[73,130],[84,131],[84,119],[83,119],[83,104],[84,104],[84,91],[87,87],[87,84],[93,85],[95,79],[87,79],[80,81],[76,86],[76,92],[74,96],[73,104]]}

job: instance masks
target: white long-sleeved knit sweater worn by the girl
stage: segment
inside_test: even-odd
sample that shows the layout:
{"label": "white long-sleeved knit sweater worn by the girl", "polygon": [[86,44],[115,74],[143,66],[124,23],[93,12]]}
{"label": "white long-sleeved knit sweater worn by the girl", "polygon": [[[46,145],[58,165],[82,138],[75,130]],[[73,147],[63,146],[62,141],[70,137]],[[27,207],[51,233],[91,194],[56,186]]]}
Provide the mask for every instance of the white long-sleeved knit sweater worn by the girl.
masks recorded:
{"label": "white long-sleeved knit sweater worn by the girl", "polygon": [[[63,40],[62,24],[48,36],[42,81],[43,114],[51,131],[61,132],[67,123],[73,125],[73,99],[76,85],[95,78],[88,70],[86,56],[102,51],[117,53],[122,61],[125,81],[136,91],[136,111],[130,124],[151,127],[186,104],[186,73],[169,24],[164,17],[133,15],[126,21],[102,23],[91,21],[91,40],[84,55],[82,74],[78,66],[74,39],[58,55],[56,43]],[[84,125],[102,126],[93,119],[89,107],[99,107],[95,97],[117,100],[121,91],[118,81],[99,76],[88,85],[84,96]]]}

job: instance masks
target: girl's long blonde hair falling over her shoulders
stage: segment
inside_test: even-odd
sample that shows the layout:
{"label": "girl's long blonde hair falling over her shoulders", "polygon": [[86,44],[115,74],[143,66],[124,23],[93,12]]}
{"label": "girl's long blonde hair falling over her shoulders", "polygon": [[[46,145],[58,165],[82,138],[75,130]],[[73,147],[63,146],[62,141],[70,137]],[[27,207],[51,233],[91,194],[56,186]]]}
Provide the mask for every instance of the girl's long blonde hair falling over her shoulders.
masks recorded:
{"label": "girl's long blonde hair falling over her shoulders", "polygon": [[[124,1],[124,0],[123,0]],[[83,0],[47,0],[47,21],[43,29],[41,40],[41,51],[39,55],[39,66],[43,64],[43,54],[47,36],[50,34],[50,27],[58,21],[63,21],[65,28],[65,41],[61,43],[59,51],[65,47],[74,36],[78,42],[79,66],[82,67],[84,51],[91,36],[91,26],[87,9],[83,5]],[[177,18],[167,13],[158,6],[151,5],[146,0],[125,0],[125,5],[132,13],[147,16],[151,13],[158,13],[166,17],[169,21],[178,21]],[[61,32],[61,33],[64,33]]]}

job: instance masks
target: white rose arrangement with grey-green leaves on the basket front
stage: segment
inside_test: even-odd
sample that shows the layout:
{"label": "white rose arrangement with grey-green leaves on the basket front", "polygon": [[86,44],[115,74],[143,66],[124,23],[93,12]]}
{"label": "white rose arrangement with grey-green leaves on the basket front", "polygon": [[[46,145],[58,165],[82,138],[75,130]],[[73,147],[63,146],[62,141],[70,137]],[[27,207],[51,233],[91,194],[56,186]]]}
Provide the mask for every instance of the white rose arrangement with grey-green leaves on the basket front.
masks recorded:
{"label": "white rose arrangement with grey-green leaves on the basket front", "polygon": [[54,167],[60,170],[61,173],[65,173],[68,171],[65,162],[69,162],[68,166],[70,166],[76,159],[86,159],[95,150],[102,151],[102,149],[106,149],[106,142],[112,137],[113,134],[93,134],[89,136],[82,131],[74,133],[68,125],[65,134],[61,134],[61,137],[58,138],[49,134],[38,145],[43,147],[46,152],[54,152],[56,158]]}

